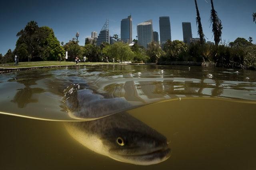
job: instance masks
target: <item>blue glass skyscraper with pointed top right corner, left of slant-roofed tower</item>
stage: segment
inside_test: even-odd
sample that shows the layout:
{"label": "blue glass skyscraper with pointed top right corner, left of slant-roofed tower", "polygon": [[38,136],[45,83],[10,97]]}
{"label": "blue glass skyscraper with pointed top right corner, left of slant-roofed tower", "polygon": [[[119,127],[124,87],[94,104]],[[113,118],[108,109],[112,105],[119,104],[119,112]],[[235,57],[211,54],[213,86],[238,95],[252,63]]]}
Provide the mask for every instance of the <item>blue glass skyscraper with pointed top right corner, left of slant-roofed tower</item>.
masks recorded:
{"label": "blue glass skyscraper with pointed top right corner, left of slant-roofed tower", "polygon": [[121,21],[121,41],[132,43],[132,16]]}

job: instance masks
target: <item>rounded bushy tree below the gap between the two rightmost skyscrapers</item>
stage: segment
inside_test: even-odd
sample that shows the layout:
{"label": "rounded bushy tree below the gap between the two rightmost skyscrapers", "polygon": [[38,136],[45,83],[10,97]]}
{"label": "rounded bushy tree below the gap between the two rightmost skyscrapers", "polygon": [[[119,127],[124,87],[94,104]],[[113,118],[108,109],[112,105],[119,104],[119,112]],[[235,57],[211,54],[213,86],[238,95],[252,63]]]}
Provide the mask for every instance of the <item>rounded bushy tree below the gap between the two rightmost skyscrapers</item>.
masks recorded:
{"label": "rounded bushy tree below the gap between the two rightmost skyscrapers", "polygon": [[182,53],[185,53],[188,50],[188,47],[186,43],[174,40],[171,42],[170,40],[167,40],[166,43],[164,43],[164,52],[166,53],[167,59],[171,61],[178,61],[180,60],[180,57],[182,57]]}

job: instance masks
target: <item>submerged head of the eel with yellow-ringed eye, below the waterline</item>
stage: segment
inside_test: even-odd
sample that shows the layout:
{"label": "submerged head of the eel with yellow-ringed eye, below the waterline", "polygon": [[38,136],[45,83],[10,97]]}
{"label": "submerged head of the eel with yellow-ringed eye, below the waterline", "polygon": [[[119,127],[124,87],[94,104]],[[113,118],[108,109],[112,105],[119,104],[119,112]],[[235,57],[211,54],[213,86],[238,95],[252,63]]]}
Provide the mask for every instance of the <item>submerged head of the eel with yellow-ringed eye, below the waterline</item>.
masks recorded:
{"label": "submerged head of the eel with yellow-ringed eye, below the waterline", "polygon": [[152,165],[170,157],[166,137],[128,113],[69,122],[65,127],[86,148],[120,162]]}

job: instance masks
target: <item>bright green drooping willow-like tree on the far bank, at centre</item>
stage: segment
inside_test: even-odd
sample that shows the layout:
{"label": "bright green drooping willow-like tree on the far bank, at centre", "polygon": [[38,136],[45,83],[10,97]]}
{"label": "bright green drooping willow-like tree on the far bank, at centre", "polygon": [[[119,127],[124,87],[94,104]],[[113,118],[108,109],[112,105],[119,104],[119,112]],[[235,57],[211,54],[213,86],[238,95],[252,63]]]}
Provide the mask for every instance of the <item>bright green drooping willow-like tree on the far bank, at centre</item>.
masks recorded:
{"label": "bright green drooping willow-like tree on the far bank, at centre", "polygon": [[103,48],[103,53],[110,57],[114,58],[116,61],[132,61],[134,58],[134,52],[131,50],[128,44],[122,42],[116,42],[112,45],[107,45]]}

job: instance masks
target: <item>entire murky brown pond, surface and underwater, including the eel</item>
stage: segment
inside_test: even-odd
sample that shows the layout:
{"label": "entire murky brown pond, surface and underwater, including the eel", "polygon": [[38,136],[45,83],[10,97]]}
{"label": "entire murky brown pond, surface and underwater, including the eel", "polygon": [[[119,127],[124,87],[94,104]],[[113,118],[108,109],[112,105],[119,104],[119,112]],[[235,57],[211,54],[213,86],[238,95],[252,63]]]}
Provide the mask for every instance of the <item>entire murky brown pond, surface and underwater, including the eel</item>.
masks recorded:
{"label": "entire murky brown pond, surface and underwater, including the eel", "polygon": [[0,94],[0,169],[256,169],[255,71],[40,69]]}

